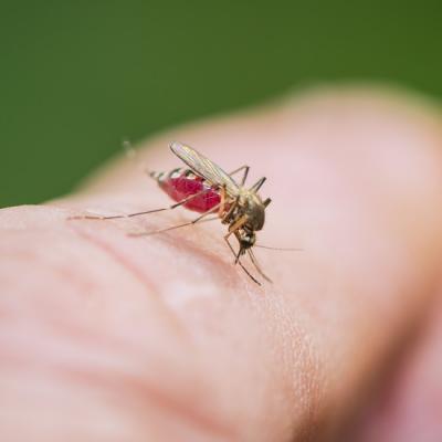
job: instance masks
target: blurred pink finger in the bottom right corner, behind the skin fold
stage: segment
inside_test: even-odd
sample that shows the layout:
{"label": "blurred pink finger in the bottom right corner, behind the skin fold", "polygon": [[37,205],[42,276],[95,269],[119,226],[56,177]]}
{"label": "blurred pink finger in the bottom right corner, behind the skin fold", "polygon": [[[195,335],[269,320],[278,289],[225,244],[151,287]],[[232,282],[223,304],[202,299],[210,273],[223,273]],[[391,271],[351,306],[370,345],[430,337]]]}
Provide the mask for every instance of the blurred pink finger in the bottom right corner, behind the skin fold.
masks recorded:
{"label": "blurred pink finger in the bottom right corner, behind the skin fold", "polygon": [[440,373],[442,297],[400,366],[375,390],[356,427],[358,442],[439,441],[442,434]]}

